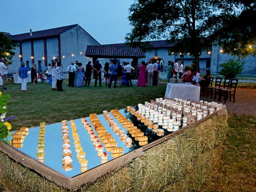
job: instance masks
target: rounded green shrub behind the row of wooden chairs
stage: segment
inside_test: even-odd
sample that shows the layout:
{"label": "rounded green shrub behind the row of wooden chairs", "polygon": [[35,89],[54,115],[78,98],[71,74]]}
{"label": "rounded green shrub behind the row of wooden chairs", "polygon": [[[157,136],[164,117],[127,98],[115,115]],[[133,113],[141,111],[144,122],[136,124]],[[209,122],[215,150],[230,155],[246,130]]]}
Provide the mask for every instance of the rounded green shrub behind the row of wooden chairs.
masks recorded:
{"label": "rounded green shrub behind the row of wooden chairs", "polygon": [[220,65],[222,68],[219,73],[226,78],[235,78],[237,75],[242,74],[244,64],[244,61],[230,59]]}

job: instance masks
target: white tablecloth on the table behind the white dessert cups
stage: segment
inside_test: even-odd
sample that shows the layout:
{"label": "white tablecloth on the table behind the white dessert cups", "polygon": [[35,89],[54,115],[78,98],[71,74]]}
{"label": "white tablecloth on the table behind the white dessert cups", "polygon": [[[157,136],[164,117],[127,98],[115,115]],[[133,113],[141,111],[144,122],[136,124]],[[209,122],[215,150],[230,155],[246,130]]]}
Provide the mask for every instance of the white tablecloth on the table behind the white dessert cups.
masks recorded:
{"label": "white tablecloth on the table behind the white dessert cups", "polygon": [[168,83],[165,96],[174,99],[175,97],[183,100],[200,100],[200,87],[192,84]]}

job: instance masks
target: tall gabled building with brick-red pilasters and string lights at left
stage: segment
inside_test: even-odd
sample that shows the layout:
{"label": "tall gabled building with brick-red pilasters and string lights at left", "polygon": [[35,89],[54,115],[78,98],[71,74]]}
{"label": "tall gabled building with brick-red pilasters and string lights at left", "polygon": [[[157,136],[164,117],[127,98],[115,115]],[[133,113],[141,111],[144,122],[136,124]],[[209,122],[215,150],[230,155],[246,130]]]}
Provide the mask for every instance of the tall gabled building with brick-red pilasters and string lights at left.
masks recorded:
{"label": "tall gabled building with brick-red pilasters and string lights at left", "polygon": [[10,74],[17,72],[20,61],[24,61],[28,67],[35,63],[37,70],[43,73],[56,58],[64,69],[76,60],[85,65],[90,60],[84,56],[86,45],[100,45],[78,24],[35,32],[30,30],[12,37],[20,40],[20,47],[16,48],[14,62],[8,69]]}

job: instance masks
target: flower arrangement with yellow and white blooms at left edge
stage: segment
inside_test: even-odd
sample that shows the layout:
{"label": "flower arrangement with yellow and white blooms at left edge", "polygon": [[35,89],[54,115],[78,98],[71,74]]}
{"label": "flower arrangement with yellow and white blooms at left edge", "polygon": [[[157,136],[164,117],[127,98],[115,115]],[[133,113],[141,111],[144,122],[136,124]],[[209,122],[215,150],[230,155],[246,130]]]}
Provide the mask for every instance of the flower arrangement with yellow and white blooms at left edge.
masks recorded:
{"label": "flower arrangement with yellow and white blooms at left edge", "polygon": [[10,136],[9,131],[12,125],[8,122],[15,118],[15,116],[10,116],[6,118],[7,103],[10,99],[10,95],[2,95],[0,92],[0,140],[4,140]]}

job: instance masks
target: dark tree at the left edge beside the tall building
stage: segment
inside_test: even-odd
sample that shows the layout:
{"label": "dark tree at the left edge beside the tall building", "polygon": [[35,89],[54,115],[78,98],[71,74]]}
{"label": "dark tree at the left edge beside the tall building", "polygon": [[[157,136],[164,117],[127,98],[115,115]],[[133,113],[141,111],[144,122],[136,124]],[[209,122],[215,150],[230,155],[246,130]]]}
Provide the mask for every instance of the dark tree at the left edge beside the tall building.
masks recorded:
{"label": "dark tree at the left edge beside the tall building", "polygon": [[12,57],[15,55],[13,50],[16,46],[18,45],[8,35],[0,32],[0,58],[5,58],[11,64]]}

